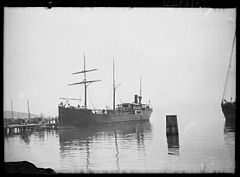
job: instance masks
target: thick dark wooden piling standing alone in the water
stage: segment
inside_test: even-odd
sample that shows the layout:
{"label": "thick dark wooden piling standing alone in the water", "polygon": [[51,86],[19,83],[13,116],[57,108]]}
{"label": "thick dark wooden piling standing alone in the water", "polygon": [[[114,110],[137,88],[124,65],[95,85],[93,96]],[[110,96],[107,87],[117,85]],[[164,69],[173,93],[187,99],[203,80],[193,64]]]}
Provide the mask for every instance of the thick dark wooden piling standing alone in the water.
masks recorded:
{"label": "thick dark wooden piling standing alone in the water", "polygon": [[177,115],[166,115],[167,135],[178,135]]}

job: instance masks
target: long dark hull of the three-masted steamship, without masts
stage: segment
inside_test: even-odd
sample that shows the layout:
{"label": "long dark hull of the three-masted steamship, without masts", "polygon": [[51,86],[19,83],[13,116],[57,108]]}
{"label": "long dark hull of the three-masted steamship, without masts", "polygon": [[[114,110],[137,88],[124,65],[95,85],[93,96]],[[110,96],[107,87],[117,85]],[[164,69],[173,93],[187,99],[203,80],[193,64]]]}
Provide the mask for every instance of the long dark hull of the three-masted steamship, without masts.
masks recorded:
{"label": "long dark hull of the three-masted steamship, without masts", "polygon": [[79,126],[86,124],[148,121],[152,109],[141,110],[139,113],[111,112],[94,113],[91,109],[76,109],[70,107],[58,107],[60,126]]}

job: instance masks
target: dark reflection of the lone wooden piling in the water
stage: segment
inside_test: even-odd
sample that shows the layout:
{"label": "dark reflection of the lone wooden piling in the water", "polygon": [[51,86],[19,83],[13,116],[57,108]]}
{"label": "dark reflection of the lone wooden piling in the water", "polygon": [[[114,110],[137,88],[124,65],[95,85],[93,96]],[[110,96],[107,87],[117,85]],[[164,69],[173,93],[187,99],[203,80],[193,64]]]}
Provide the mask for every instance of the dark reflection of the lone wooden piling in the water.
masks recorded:
{"label": "dark reflection of the lone wooden piling in the water", "polygon": [[167,135],[168,154],[179,156],[179,138],[178,135]]}

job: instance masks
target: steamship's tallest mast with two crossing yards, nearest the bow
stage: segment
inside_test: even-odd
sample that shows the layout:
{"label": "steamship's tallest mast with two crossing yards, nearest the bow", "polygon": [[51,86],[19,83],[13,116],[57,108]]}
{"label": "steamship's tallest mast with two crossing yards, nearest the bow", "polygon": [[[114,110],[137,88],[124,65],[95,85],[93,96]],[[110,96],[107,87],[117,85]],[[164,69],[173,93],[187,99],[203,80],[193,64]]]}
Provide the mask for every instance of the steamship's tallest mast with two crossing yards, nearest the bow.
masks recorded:
{"label": "steamship's tallest mast with two crossing yards, nearest the bow", "polygon": [[83,73],[84,74],[84,79],[82,82],[76,82],[76,83],[72,83],[72,84],[69,84],[70,85],[78,85],[78,84],[84,84],[84,106],[85,108],[87,108],[87,83],[91,84],[93,82],[98,82],[100,80],[92,80],[92,81],[87,81],[86,79],[86,72],[90,72],[90,71],[95,71],[97,69],[89,69],[89,70],[86,70],[86,64],[85,64],[85,54],[83,56],[83,59],[84,59],[84,64],[83,64],[83,71],[80,71],[80,72],[75,72],[75,73],[72,73],[72,74],[80,74],[80,73]]}

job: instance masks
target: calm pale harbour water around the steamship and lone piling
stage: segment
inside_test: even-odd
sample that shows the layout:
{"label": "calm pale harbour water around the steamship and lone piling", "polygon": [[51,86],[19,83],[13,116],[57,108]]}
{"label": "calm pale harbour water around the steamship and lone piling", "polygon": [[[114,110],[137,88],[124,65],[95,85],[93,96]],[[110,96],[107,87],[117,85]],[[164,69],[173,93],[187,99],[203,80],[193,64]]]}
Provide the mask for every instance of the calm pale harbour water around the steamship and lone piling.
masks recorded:
{"label": "calm pale harbour water around the steamship and lone piling", "polygon": [[166,114],[154,111],[144,123],[5,137],[5,161],[27,160],[61,173],[235,172],[235,127],[225,124],[220,109],[177,112],[179,137],[169,138]]}

